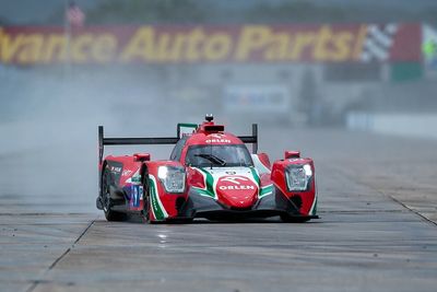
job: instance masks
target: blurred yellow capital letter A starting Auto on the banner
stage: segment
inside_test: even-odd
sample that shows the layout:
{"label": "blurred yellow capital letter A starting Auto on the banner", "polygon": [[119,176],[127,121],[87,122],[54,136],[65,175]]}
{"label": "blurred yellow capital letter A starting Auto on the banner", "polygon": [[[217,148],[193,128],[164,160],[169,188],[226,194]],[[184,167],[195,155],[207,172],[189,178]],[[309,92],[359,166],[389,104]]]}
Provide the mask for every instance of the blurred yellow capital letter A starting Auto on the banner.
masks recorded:
{"label": "blurred yellow capital letter A starting Auto on the banner", "polygon": [[134,58],[141,58],[143,61],[154,60],[154,30],[144,26],[137,30],[135,34],[121,52],[120,60],[123,62],[131,61]]}

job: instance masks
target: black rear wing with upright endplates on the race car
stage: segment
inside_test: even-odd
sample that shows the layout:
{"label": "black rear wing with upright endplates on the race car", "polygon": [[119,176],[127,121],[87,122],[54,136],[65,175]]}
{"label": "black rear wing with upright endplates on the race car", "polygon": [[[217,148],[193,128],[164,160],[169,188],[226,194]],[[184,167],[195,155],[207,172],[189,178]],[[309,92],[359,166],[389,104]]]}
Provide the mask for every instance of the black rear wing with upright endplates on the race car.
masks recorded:
{"label": "black rear wing with upright endplates on the race car", "polygon": [[[105,145],[146,145],[146,144],[176,144],[185,135],[184,129],[196,130],[197,124],[178,124],[176,137],[158,137],[158,138],[114,138],[105,137],[103,126],[98,126],[98,163],[102,164]],[[192,131],[191,131],[192,132]],[[251,136],[238,136],[244,143],[252,144],[252,152],[258,152],[258,125],[252,124]]]}

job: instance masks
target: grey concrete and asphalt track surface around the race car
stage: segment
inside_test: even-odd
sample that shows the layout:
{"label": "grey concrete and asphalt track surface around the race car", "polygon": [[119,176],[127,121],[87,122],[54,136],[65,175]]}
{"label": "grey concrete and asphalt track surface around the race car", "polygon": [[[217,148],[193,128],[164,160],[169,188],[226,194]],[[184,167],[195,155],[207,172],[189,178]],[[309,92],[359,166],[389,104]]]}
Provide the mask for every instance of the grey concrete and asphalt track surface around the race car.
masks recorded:
{"label": "grey concrete and asphalt track surface around the race car", "polygon": [[273,157],[285,149],[315,157],[321,219],[109,223],[94,210],[93,143],[80,157],[62,154],[64,172],[42,159],[51,149],[1,154],[0,290],[436,291],[437,142],[260,135]]}

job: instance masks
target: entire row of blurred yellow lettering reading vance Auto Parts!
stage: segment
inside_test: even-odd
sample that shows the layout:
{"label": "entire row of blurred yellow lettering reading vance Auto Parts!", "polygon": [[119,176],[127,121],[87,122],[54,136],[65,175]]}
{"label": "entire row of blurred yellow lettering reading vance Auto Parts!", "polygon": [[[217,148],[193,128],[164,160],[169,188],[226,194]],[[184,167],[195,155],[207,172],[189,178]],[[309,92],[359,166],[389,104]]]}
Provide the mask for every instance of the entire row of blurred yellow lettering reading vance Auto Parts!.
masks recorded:
{"label": "entire row of blurred yellow lettering reading vance Auto Parts!", "polygon": [[[239,35],[197,26],[191,30],[161,30],[141,26],[127,44],[111,32],[81,32],[70,40],[61,31],[9,33],[0,27],[0,62],[50,63],[66,61],[196,62],[196,61],[314,61],[359,59],[367,26],[351,28],[322,25],[305,30],[246,25]],[[205,31],[206,30],[206,31]],[[20,33],[23,32],[23,33]],[[56,33],[58,32],[58,33]],[[235,38],[234,38],[235,37]],[[234,43],[236,42],[236,43]],[[121,48],[119,46],[123,45]],[[119,54],[119,55],[118,55]]]}

